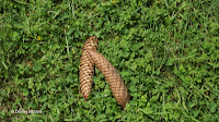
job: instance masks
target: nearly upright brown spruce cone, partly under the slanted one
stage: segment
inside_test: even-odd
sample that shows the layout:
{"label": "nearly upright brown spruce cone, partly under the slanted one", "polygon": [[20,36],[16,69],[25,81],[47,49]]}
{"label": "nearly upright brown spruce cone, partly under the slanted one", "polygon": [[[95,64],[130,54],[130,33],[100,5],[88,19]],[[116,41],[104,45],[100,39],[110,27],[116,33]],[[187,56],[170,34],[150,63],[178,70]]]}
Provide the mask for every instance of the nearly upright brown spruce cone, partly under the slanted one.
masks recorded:
{"label": "nearly upright brown spruce cone, partly under the slanted one", "polygon": [[81,62],[80,62],[79,81],[80,81],[81,93],[85,99],[89,98],[89,94],[92,90],[92,84],[93,84],[92,76],[94,74],[94,63],[88,53],[88,49],[96,50],[97,44],[99,40],[95,36],[89,37],[87,41],[83,44]]}

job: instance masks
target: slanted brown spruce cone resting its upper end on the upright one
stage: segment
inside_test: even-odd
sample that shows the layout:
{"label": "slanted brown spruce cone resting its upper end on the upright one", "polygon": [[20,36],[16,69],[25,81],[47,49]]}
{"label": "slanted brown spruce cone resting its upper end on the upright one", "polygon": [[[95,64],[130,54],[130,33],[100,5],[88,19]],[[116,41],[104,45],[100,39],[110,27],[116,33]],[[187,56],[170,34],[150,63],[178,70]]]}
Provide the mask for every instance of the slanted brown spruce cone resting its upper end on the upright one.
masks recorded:
{"label": "slanted brown spruce cone resting its upper end on the upright one", "polygon": [[111,90],[116,98],[116,101],[125,108],[126,102],[129,101],[129,94],[120,75],[117,73],[112,63],[101,53],[95,50],[88,50],[88,52],[97,69],[103,73],[105,80],[110,83]]}

